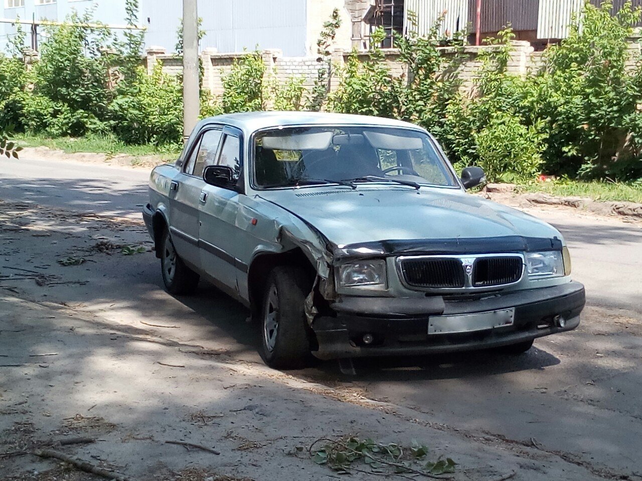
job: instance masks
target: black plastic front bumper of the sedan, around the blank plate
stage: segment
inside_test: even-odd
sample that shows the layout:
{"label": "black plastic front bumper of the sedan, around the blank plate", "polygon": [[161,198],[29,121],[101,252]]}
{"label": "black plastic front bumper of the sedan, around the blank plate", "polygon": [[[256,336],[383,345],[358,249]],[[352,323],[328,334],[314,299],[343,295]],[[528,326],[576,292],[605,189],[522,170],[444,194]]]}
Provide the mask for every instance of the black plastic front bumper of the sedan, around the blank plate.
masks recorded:
{"label": "black plastic front bumper of the sedan, around the blank plate", "polygon": [[[584,286],[569,282],[555,287],[512,291],[474,300],[426,298],[343,298],[331,305],[336,316],[317,317],[319,359],[422,355],[507,346],[575,329],[586,297]],[[455,334],[428,334],[430,316],[473,314],[515,308],[510,326]],[[557,316],[566,323],[560,327]],[[366,345],[363,335],[372,334]]]}

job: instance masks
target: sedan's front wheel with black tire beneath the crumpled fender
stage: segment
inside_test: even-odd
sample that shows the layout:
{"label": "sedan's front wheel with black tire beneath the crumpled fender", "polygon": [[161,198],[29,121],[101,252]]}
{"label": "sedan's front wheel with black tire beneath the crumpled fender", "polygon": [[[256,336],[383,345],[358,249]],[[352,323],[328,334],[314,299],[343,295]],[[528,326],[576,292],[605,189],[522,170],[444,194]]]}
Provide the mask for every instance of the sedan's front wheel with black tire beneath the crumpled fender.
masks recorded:
{"label": "sedan's front wheel with black tire beneath the crumpled fender", "polygon": [[261,299],[261,357],[268,366],[296,369],[311,361],[311,333],[304,312],[310,288],[299,267],[277,266],[270,271]]}

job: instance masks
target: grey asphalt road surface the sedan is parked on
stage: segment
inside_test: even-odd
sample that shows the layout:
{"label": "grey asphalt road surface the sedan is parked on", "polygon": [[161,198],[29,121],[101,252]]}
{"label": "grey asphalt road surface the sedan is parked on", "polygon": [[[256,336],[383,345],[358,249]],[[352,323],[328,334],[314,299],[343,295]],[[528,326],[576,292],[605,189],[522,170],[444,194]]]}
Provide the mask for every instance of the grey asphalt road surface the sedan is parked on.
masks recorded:
{"label": "grey asphalt road surface the sedan is parked on", "polygon": [[[145,201],[147,172],[141,169],[30,159],[0,165],[0,199],[110,216],[139,215]],[[457,430],[534,444],[604,478],[642,479],[642,224],[573,210],[527,210],[568,240],[573,276],[586,285],[589,303],[578,330],[539,339],[519,357],[471,353],[359,360],[356,376],[341,375],[336,363],[325,362],[293,374],[410,407]],[[74,235],[82,237],[82,230]],[[146,240],[142,229],[135,235]],[[80,245],[80,237],[73,242]],[[44,256],[29,249],[4,260],[21,266]],[[117,322],[180,320],[185,329],[172,334],[184,341],[211,337],[236,358],[260,362],[256,331],[243,322],[247,312],[215,289],[203,285],[193,298],[172,298],[162,289],[152,255],[128,262],[96,257],[84,266],[74,272],[83,272],[87,285],[56,285],[46,293],[31,285],[28,292],[82,303]],[[71,272],[55,263],[49,269]]]}

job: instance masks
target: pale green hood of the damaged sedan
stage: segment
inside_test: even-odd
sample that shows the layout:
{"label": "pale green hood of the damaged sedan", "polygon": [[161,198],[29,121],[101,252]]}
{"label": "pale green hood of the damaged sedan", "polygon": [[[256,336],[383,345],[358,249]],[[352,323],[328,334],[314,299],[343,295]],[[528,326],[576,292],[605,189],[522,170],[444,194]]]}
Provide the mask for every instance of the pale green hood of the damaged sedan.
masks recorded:
{"label": "pale green hood of the damaged sedan", "polygon": [[532,237],[562,240],[549,224],[459,189],[404,186],[301,188],[261,192],[336,246],[374,241]]}

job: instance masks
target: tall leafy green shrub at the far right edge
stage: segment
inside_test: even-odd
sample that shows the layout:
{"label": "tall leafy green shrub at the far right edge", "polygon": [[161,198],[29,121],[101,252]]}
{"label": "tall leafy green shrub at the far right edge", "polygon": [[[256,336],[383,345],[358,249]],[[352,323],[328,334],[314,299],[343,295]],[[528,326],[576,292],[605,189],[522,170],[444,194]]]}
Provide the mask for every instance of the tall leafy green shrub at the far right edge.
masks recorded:
{"label": "tall leafy green shrub at the far right edge", "polygon": [[546,122],[550,172],[602,177],[620,169],[618,160],[641,153],[642,78],[627,68],[627,38],[640,11],[630,1],[616,15],[611,8],[611,2],[600,8],[587,3],[581,25],[576,19],[569,37],[546,52],[533,105]]}

